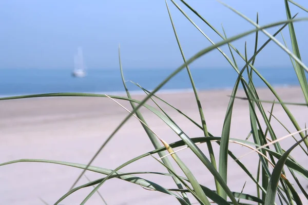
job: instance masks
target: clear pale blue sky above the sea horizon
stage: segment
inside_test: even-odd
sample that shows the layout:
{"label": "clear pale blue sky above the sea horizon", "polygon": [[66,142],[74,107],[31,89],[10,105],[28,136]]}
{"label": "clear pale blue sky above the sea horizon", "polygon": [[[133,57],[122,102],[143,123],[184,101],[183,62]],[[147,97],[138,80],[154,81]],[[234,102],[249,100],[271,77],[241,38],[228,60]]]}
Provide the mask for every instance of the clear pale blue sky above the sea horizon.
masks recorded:
{"label": "clear pale blue sky above the sea horizon", "polygon": [[[255,27],[215,0],[186,0],[208,22],[228,37]],[[305,8],[308,1],[295,0]],[[217,43],[222,40],[180,1],[177,4]],[[283,0],[222,0],[247,17],[265,25],[285,20]],[[167,0],[172,19],[186,58],[210,46],[210,42]],[[308,13],[290,4],[292,15]],[[83,48],[88,69],[118,69],[118,47],[124,69],[175,69],[183,63],[164,0],[2,0],[0,1],[0,69],[38,68],[72,69],[73,55]],[[308,55],[306,38],[308,22],[295,23],[301,56]],[[267,29],[274,34],[279,27]],[[283,30],[291,49],[288,27]],[[283,43],[281,35],[277,36]],[[267,40],[259,35],[259,47]],[[255,34],[233,44],[248,57],[253,55]],[[230,56],[227,46],[221,47]],[[231,57],[231,56],[230,56]],[[239,65],[243,60],[236,56]],[[308,63],[303,59],[304,63]],[[291,67],[288,55],[270,43],[256,59],[258,67]],[[195,68],[226,68],[227,60],[217,51],[202,56],[191,64]]]}

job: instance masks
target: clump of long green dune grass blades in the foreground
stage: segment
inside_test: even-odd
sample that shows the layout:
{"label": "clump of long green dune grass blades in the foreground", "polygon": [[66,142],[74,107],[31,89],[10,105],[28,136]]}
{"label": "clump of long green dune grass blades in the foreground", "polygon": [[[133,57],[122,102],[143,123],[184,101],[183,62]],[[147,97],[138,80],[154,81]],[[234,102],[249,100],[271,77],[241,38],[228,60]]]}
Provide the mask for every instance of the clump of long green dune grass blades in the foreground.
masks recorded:
{"label": "clump of long green dune grass blades in the foreground", "polygon": [[[169,10],[168,2],[171,3],[175,8],[179,10],[186,18],[189,20],[189,22],[195,26],[195,28],[212,44],[211,46],[199,51],[194,56],[192,56],[189,59],[186,59],[184,55],[184,51],[180,44],[179,36],[177,35],[176,27],[174,25],[171,12]],[[118,178],[119,180],[124,180],[127,182],[135,183],[137,185],[141,185],[143,187],[146,187],[150,190],[155,190],[158,192],[161,192],[163,194],[167,194],[170,197],[175,197],[180,204],[192,204],[191,199],[189,199],[187,193],[190,193],[189,196],[193,197],[194,200],[197,200],[200,204],[206,204],[209,205],[211,202],[214,202],[216,204],[266,204],[266,205],[272,205],[275,203],[281,203],[281,204],[303,204],[301,198],[298,195],[298,192],[296,191],[297,188],[301,190],[304,197],[308,200],[308,194],[305,191],[304,185],[301,185],[299,180],[297,179],[297,175],[300,174],[305,179],[308,179],[308,171],[300,165],[293,157],[292,157],[292,150],[300,146],[303,151],[303,157],[307,157],[307,150],[308,150],[308,140],[307,140],[307,129],[302,128],[296,118],[292,115],[291,111],[287,108],[288,105],[293,106],[301,106],[302,109],[307,109],[308,106],[308,84],[307,79],[305,76],[305,72],[308,71],[307,66],[301,61],[301,55],[299,51],[299,46],[296,38],[296,32],[294,29],[293,24],[302,21],[302,20],[308,20],[308,18],[295,18],[296,15],[292,16],[291,10],[289,7],[289,2],[293,5],[299,7],[302,9],[303,12],[307,12],[308,10],[305,9],[303,6],[297,4],[294,1],[287,1],[284,0],[285,4],[285,11],[286,11],[286,20],[282,20],[280,22],[274,22],[265,26],[260,26],[258,24],[258,14],[256,22],[249,19],[248,17],[244,16],[242,13],[237,11],[236,9],[225,5],[222,3],[222,5],[226,6],[233,12],[237,13],[239,17],[242,17],[243,19],[247,20],[247,22],[251,23],[255,29],[240,33],[238,35],[235,35],[233,37],[227,37],[227,34],[223,30],[223,34],[221,34],[217,28],[213,27],[204,17],[202,17],[194,8],[189,6],[185,1],[180,0],[181,6],[186,7],[186,9],[189,9],[194,13],[200,20],[209,28],[211,28],[214,32],[216,32],[217,35],[219,35],[222,40],[221,42],[214,43],[213,40],[211,40],[201,29],[197,26],[197,24],[184,12],[184,10],[181,8],[180,4],[176,3],[174,0],[166,1],[166,10],[169,15],[169,20],[171,27],[174,31],[175,38],[180,50],[180,53],[183,58],[183,64],[174,70],[170,75],[162,81],[161,84],[159,84],[152,92],[148,91],[146,88],[143,88],[139,84],[137,85],[140,89],[142,89],[146,93],[146,97],[139,101],[136,99],[133,99],[129,93],[129,90],[126,86],[126,80],[122,71],[122,63],[121,63],[121,57],[120,57],[120,47],[119,47],[119,63],[120,63],[120,71],[121,71],[121,77],[123,81],[124,89],[127,93],[127,97],[121,97],[121,96],[108,96],[103,94],[91,94],[91,93],[47,93],[47,94],[39,94],[39,95],[24,95],[24,96],[14,96],[14,97],[5,97],[0,98],[0,100],[13,100],[18,98],[30,98],[30,97],[51,97],[51,96],[83,96],[83,97],[106,97],[111,98],[114,100],[115,103],[117,103],[119,106],[122,106],[121,103],[118,100],[127,100],[130,102],[131,108],[133,109],[131,112],[128,111],[126,108],[126,111],[128,112],[127,117],[121,122],[121,124],[117,127],[117,129],[114,130],[114,132],[106,139],[104,144],[100,147],[100,149],[97,151],[97,153],[89,160],[89,163],[87,165],[81,165],[77,163],[71,163],[71,162],[65,162],[65,161],[54,161],[54,160],[45,160],[45,159],[20,159],[20,160],[14,160],[9,161],[5,163],[1,163],[0,166],[9,165],[11,163],[17,163],[17,162],[45,162],[45,163],[56,163],[63,166],[70,166],[74,168],[82,169],[80,176],[76,179],[76,181],[71,186],[71,189],[64,193],[63,196],[59,196],[59,200],[57,200],[54,204],[59,204],[63,199],[65,199],[70,194],[83,189],[85,187],[93,186],[93,190],[89,193],[89,195],[81,202],[81,204],[86,203],[86,201],[95,193],[98,192],[99,188],[104,185],[104,182],[111,178]],[[275,32],[275,34],[271,35],[269,34],[265,29],[277,27],[280,28]],[[286,29],[288,26],[288,30],[290,32],[290,38],[292,43],[292,51],[287,48],[287,45],[284,41],[284,45],[279,42],[279,40],[275,37],[279,33],[282,32],[282,30]],[[258,48],[258,45],[260,45],[260,42],[258,40],[258,33],[262,32],[267,37],[268,40],[266,40],[265,43],[261,44],[261,46]],[[245,53],[242,54],[240,51],[232,45],[232,42],[234,40],[240,39],[244,36],[247,36],[249,34],[255,33],[255,46],[254,46],[254,54],[250,58],[247,56],[246,52],[246,45],[245,45]],[[290,59],[292,61],[292,65],[294,67],[295,74],[297,75],[297,78],[299,80],[299,84],[303,93],[303,97],[306,101],[306,104],[303,103],[287,103],[282,101],[282,99],[279,97],[278,93],[275,91],[273,86],[269,84],[266,79],[261,75],[260,72],[258,72],[258,69],[254,66],[255,60],[257,59],[257,55],[262,49],[270,42],[274,42],[279,46],[288,56],[290,56]],[[227,45],[231,58],[222,51],[220,48],[223,45]],[[195,61],[196,59],[202,57],[203,55],[206,55],[208,52],[213,51],[214,49],[217,49],[228,61],[230,66],[235,70],[235,72],[238,73],[238,78],[235,81],[235,85],[233,88],[232,93],[230,94],[229,104],[226,109],[225,113],[225,119],[222,127],[222,133],[221,136],[213,136],[210,133],[210,130],[208,130],[206,126],[206,113],[204,112],[201,102],[198,96],[197,89],[194,84],[194,78],[192,77],[192,74],[189,69],[189,65]],[[236,61],[235,56],[238,55],[241,57],[241,59],[245,62],[245,65],[243,67],[238,67],[238,63]],[[164,99],[159,98],[155,95],[157,91],[159,91],[162,86],[164,86],[172,77],[174,77],[177,73],[179,73],[181,70],[185,69],[187,71],[187,76],[190,79],[192,89],[195,94],[195,100],[197,101],[199,115],[200,115],[200,122],[194,121],[189,116],[182,113],[180,110],[175,108],[174,106],[168,104]],[[247,79],[243,77],[243,73],[247,72]],[[259,98],[257,89],[254,86],[254,79],[260,78],[263,80],[265,85],[268,87],[268,89],[274,94],[274,96],[277,98],[277,101],[266,101]],[[236,93],[238,90],[239,85],[243,86],[243,89],[245,91],[246,96],[245,97],[237,97]],[[246,140],[240,140],[236,138],[230,138],[230,126],[231,126],[231,120],[232,120],[232,113],[233,113],[233,106],[234,106],[234,100],[236,98],[240,98],[242,100],[247,100],[249,103],[248,110],[249,110],[249,117],[251,121],[251,133],[249,133],[248,137],[253,138],[253,142],[248,141],[248,137]],[[147,104],[147,100],[152,100],[156,105],[157,108],[152,107]],[[267,112],[263,108],[264,103],[272,103],[272,110],[269,112],[269,116],[267,116]],[[201,129],[203,131],[204,136],[203,137],[197,137],[197,138],[190,138],[188,137],[180,126],[178,126],[174,119],[172,119],[168,113],[162,109],[160,106],[161,104],[166,104],[170,106],[172,109],[175,109],[180,114],[182,114],[184,117],[189,119],[192,124],[196,126],[196,129]],[[285,111],[286,115],[292,122],[294,128],[297,130],[296,133],[291,133],[288,131],[288,128],[286,128],[284,125],[282,125],[289,133],[290,136],[293,136],[298,134],[301,139],[296,140],[294,142],[294,145],[290,146],[288,150],[283,150],[280,146],[280,139],[277,138],[277,135],[275,131],[273,130],[271,126],[271,121],[276,119],[278,120],[273,114],[273,108],[274,105],[281,106],[283,110]],[[145,107],[148,110],[150,110],[152,113],[156,114],[161,120],[165,122],[166,125],[169,126],[169,128],[174,131],[179,136],[179,141],[172,142],[170,144],[167,144],[166,141],[163,140],[163,136],[158,136],[155,132],[152,131],[152,129],[147,125],[146,119],[143,117],[142,113],[139,111],[141,107]],[[261,117],[256,114],[256,112],[261,113]],[[153,145],[153,150],[149,150],[149,152],[144,153],[143,155],[137,156],[122,165],[119,165],[118,168],[114,170],[109,170],[105,168],[99,168],[99,167],[93,167],[91,166],[91,163],[93,160],[98,156],[98,154],[104,149],[108,141],[112,139],[115,133],[119,131],[119,129],[125,124],[125,122],[130,117],[136,117],[140,123],[141,126],[146,131],[146,134],[148,135],[148,138],[150,142]],[[262,128],[261,124],[265,124],[265,129]],[[289,128],[290,129],[290,128]],[[267,134],[270,138],[267,137]],[[219,145],[219,157],[216,158],[214,155],[212,143],[216,142]],[[207,145],[207,150],[209,154],[209,158],[206,157],[205,153],[203,153],[197,146],[197,144],[205,143]],[[253,176],[249,171],[248,168],[245,167],[245,165],[240,161],[241,156],[235,156],[229,149],[229,143],[237,143],[243,146],[248,147],[249,149],[252,149],[253,152],[258,152],[259,159],[256,161],[258,163],[258,174],[257,176]],[[274,144],[274,149],[271,149],[269,145]],[[189,167],[185,165],[185,163],[180,159],[180,157],[177,155],[177,153],[173,150],[173,148],[177,147],[183,147],[185,146],[186,149],[189,149],[192,153],[194,153],[198,159],[203,163],[206,169],[208,169],[211,173],[211,177],[213,177],[213,180],[215,180],[216,190],[210,190],[204,185],[202,185],[192,174],[192,172],[189,170]],[[166,152],[167,151],[167,152]],[[153,154],[158,153],[159,158],[156,158]],[[166,155],[171,155],[171,158],[165,157]],[[157,166],[164,166],[166,171],[168,173],[161,173],[161,172],[138,172],[138,170],[134,173],[122,173],[120,170],[124,168],[125,166],[129,165],[130,163],[133,163],[134,161],[137,161],[144,157],[154,157],[158,162]],[[238,169],[242,169],[249,178],[256,184],[256,191],[257,196],[252,196],[245,193],[245,183],[246,181],[241,181],[243,184],[242,191],[234,192],[233,190],[230,190],[227,183],[227,172],[228,172],[228,159],[231,157],[236,161],[236,163],[239,165]],[[176,165],[179,166],[179,168],[183,171],[185,177],[180,176],[175,172],[175,169],[171,166],[170,159],[174,160],[176,162]],[[218,166],[217,166],[218,165]],[[273,171],[270,170],[273,168]],[[290,171],[290,175],[286,175],[284,169],[287,169]],[[75,187],[76,183],[80,180],[81,177],[85,176],[86,171],[91,172],[97,172],[102,174],[102,178],[90,181],[89,183],[86,183],[85,185]],[[165,175],[172,177],[174,180],[177,189],[168,189],[165,187],[160,186],[158,183],[154,181],[149,181],[145,178],[138,177],[138,174],[151,174],[151,175]],[[294,179],[296,181],[296,185],[293,185],[290,183],[289,179]],[[178,195],[177,193],[180,193]],[[100,194],[100,193],[99,193]],[[104,194],[102,194],[104,195]],[[100,194],[100,196],[102,197]],[[104,203],[107,204],[107,202],[102,197],[102,200]],[[242,202],[245,200],[245,202]]]}

